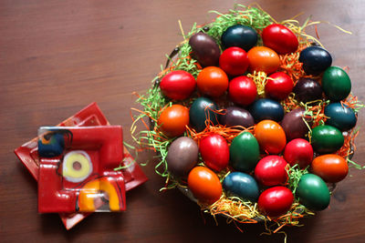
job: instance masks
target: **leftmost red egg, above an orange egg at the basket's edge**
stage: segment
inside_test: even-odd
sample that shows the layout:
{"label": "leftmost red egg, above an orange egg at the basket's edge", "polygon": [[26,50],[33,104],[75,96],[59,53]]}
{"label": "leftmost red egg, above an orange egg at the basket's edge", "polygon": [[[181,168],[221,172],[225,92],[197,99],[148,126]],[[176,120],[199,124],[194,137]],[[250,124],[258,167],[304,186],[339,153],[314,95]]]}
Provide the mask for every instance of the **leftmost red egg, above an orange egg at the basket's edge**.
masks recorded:
{"label": "leftmost red egg, above an orange egg at the basket's edge", "polygon": [[182,100],[192,95],[196,86],[195,78],[183,70],[172,71],[162,77],[162,94],[171,99]]}

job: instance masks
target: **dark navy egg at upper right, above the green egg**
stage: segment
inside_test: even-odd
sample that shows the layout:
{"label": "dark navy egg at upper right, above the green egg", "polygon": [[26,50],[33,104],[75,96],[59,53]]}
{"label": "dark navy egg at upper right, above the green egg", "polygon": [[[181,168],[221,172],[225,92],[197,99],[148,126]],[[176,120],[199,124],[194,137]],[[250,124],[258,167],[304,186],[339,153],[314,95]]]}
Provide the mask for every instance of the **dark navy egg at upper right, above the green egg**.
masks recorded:
{"label": "dark navy egg at upper right, above the green egg", "polygon": [[308,46],[300,52],[299,62],[308,75],[318,76],[332,64],[332,56],[319,46]]}

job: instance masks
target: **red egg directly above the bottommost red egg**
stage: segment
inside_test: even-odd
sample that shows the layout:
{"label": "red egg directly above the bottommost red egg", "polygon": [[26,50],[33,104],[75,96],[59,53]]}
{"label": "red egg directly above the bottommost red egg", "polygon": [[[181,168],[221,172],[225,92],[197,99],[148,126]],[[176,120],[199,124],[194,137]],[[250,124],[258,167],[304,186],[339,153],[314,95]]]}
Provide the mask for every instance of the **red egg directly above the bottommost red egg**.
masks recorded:
{"label": "red egg directly above the bottommost red egg", "polygon": [[287,161],[279,156],[267,156],[258,161],[255,177],[267,187],[281,185],[287,181]]}

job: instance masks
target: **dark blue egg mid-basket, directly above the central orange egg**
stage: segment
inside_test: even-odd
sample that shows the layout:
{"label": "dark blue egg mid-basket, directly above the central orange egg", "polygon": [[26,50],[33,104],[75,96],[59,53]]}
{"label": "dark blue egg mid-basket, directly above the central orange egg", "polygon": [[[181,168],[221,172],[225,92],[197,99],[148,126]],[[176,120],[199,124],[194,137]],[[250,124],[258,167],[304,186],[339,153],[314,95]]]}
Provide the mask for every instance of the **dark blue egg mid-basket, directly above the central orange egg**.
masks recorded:
{"label": "dark blue egg mid-basket, directly above the central orange egg", "polygon": [[284,117],[284,108],[276,100],[270,98],[257,99],[250,108],[255,123],[262,120],[274,120],[279,122]]}

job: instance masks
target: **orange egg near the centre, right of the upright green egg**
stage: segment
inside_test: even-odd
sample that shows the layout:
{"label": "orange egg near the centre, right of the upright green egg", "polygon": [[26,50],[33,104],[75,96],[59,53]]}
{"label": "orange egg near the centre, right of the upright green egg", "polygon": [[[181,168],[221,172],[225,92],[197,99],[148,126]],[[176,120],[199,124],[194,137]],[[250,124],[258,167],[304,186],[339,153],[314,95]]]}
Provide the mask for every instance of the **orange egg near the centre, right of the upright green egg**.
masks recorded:
{"label": "orange egg near the centre, right of the upright green egg", "polygon": [[284,129],[272,120],[257,123],[254,129],[260,148],[269,154],[280,153],[287,144]]}

